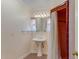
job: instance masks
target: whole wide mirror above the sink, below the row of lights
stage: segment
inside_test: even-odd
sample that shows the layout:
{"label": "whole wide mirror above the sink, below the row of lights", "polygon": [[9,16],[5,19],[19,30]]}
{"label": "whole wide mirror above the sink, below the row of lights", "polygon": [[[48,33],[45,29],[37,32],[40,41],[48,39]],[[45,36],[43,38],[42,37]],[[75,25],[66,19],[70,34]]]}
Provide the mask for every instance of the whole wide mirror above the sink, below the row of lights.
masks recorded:
{"label": "whole wide mirror above the sink, below the row of lights", "polygon": [[50,18],[34,18],[32,19],[33,32],[49,32],[50,31]]}

